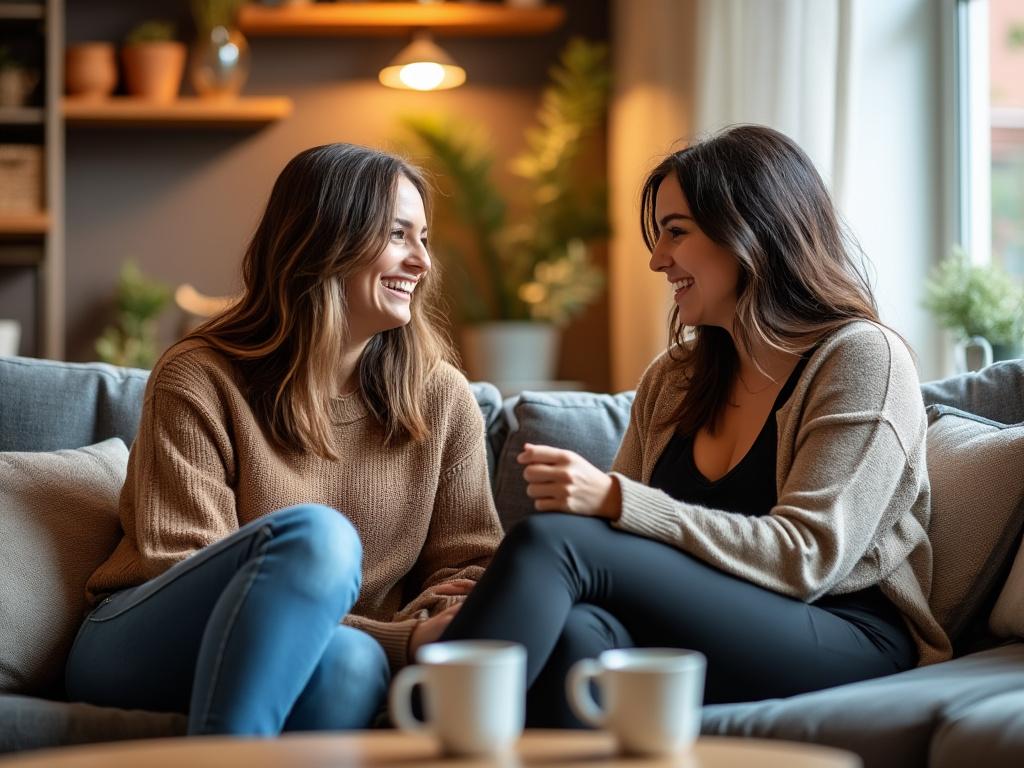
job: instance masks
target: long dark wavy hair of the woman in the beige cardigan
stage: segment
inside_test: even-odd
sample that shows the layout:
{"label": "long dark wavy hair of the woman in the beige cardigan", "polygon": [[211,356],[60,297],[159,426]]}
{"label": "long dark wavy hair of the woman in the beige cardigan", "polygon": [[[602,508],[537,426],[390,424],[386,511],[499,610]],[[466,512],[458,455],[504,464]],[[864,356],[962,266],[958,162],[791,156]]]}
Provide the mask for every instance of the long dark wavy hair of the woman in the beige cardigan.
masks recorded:
{"label": "long dark wavy hair of the woman in the beige cardigan", "polygon": [[[854,319],[879,323],[863,252],[841,223],[814,164],[788,137],[740,125],[667,157],[643,185],[640,225],[653,251],[662,181],[678,179],[697,226],[739,264],[733,336],[688,328],[674,307],[669,354],[686,394],[670,418],[714,434],[738,375],[736,345],[802,354]],[[755,365],[760,367],[757,359]]]}

